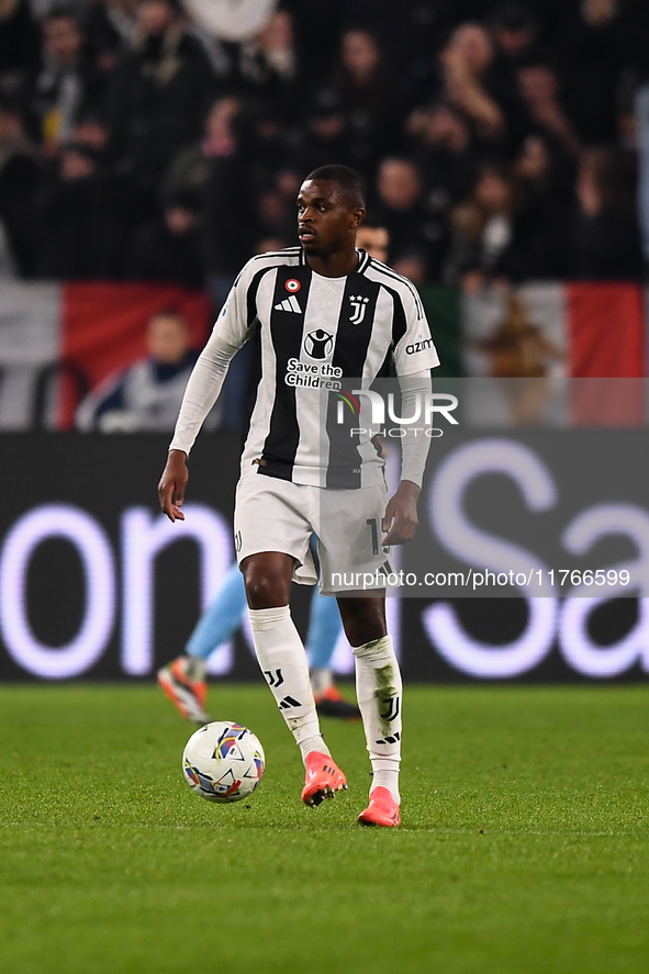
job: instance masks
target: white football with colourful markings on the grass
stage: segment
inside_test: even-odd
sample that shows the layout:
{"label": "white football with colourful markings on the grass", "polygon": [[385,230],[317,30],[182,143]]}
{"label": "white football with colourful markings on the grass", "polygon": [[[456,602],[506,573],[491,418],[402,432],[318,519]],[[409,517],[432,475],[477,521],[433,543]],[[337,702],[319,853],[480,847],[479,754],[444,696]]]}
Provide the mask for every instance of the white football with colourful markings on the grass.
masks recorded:
{"label": "white football with colourful markings on the grass", "polygon": [[264,774],[264,748],[251,730],[230,720],[205,724],[192,734],[182,754],[184,780],[208,802],[240,802]]}

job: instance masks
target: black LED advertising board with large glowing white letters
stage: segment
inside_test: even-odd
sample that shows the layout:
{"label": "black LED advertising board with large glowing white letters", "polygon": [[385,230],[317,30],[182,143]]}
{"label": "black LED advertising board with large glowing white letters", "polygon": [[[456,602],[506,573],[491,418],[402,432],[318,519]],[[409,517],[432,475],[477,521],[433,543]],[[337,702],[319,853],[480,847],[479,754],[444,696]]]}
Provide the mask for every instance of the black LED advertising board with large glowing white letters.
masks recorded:
{"label": "black LED advertising board with large glowing white letters", "polygon": [[[175,525],[157,503],[165,436],[0,440],[0,679],[150,679],[234,558],[238,437],[200,438]],[[644,440],[633,429],[465,430],[435,445],[417,538],[394,559],[416,585],[388,600],[407,680],[647,679]],[[295,602],[303,629],[309,592]],[[344,638],[334,662],[353,670]],[[210,671],[257,679],[245,620]]]}

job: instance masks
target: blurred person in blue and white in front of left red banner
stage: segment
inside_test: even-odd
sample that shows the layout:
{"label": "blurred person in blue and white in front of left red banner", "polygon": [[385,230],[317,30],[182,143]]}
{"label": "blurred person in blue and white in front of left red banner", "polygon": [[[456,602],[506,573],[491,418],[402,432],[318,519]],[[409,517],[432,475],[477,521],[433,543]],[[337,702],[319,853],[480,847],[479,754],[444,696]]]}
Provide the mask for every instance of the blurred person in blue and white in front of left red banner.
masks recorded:
{"label": "blurred person in blue and white in front of left red banner", "polygon": [[[77,412],[85,433],[161,433],[174,428],[184,387],[198,354],[190,348],[187,322],[176,311],[155,314],[146,331],[148,355],[110,377]],[[217,425],[217,413],[208,428]]]}

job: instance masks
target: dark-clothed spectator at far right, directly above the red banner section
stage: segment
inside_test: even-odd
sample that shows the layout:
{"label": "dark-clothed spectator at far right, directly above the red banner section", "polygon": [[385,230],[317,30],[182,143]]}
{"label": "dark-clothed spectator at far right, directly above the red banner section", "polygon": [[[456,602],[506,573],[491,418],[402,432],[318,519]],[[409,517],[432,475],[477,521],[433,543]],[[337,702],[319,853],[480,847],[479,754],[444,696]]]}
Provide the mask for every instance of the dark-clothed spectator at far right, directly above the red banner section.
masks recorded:
{"label": "dark-clothed spectator at far right, directly above the red banner section", "polygon": [[578,280],[642,278],[640,234],[633,189],[618,154],[584,152],[577,179],[571,277]]}

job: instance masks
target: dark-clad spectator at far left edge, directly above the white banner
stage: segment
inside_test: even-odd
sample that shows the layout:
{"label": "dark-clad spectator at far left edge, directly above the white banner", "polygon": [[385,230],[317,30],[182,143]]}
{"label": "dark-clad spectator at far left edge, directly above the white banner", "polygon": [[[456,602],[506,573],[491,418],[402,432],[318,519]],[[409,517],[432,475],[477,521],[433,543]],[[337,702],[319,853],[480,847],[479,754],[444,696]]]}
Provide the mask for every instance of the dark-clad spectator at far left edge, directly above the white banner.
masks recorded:
{"label": "dark-clad spectator at far left edge, directly above the white banner", "polygon": [[0,98],[0,220],[11,264],[21,277],[35,271],[34,197],[40,166],[18,103]]}

